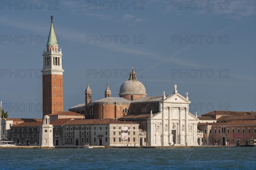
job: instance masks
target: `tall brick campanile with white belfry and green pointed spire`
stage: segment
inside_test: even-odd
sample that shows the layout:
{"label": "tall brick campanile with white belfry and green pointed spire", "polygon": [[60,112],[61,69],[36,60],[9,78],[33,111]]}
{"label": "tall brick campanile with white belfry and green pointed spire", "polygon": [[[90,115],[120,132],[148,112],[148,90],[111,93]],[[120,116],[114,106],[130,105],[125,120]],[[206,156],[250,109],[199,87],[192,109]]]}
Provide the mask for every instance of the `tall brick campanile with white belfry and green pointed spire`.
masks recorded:
{"label": "tall brick campanile with white belfry and green pointed spire", "polygon": [[62,53],[58,51],[58,41],[53,28],[51,28],[47,41],[47,51],[43,52],[43,116],[53,112],[63,111],[63,80]]}

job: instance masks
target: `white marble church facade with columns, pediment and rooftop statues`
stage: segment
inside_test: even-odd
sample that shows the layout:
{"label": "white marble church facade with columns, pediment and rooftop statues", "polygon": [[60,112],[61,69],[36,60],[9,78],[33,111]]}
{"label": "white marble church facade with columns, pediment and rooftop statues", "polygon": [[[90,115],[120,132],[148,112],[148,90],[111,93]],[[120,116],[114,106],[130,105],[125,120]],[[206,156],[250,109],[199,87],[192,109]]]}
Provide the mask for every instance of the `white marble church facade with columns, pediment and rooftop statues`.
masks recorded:
{"label": "white marble church facade with columns, pediment and rooftop statues", "polygon": [[[176,86],[177,87],[177,86]],[[177,93],[160,101],[160,112],[148,118],[147,146],[195,146],[197,143],[198,118],[189,113],[189,103]]]}

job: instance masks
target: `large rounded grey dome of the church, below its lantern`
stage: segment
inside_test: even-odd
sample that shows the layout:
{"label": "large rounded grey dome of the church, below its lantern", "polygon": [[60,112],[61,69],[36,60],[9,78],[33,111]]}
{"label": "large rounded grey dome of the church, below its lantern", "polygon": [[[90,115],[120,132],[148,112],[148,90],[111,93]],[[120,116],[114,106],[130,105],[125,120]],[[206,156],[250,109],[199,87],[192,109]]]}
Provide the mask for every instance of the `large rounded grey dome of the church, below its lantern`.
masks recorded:
{"label": "large rounded grey dome of the church, below its lantern", "polygon": [[137,80],[125,81],[119,89],[119,95],[147,95],[145,86]]}

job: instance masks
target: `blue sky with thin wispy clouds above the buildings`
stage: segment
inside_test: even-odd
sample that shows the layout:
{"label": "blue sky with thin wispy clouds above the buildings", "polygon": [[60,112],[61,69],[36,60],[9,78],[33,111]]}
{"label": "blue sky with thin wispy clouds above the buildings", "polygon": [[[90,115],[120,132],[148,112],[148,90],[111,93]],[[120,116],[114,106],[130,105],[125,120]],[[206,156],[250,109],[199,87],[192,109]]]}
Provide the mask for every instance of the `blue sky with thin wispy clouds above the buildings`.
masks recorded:
{"label": "blue sky with thin wispy clouds above the buildings", "polygon": [[253,0],[1,1],[0,100],[9,117],[42,116],[51,15],[64,54],[64,110],[84,103],[87,81],[93,101],[108,81],[118,97],[134,66],[148,96],[169,95],[174,84],[189,92],[193,114],[256,111]]}

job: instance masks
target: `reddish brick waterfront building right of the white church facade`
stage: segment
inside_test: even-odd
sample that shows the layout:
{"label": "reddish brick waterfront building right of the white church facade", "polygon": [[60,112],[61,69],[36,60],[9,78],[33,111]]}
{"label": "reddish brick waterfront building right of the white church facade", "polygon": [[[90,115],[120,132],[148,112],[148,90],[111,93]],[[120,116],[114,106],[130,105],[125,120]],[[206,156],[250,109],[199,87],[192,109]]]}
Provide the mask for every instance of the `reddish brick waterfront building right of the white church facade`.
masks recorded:
{"label": "reddish brick waterfront building right of the white church facade", "polygon": [[202,145],[246,145],[256,138],[256,112],[213,111],[198,118]]}

